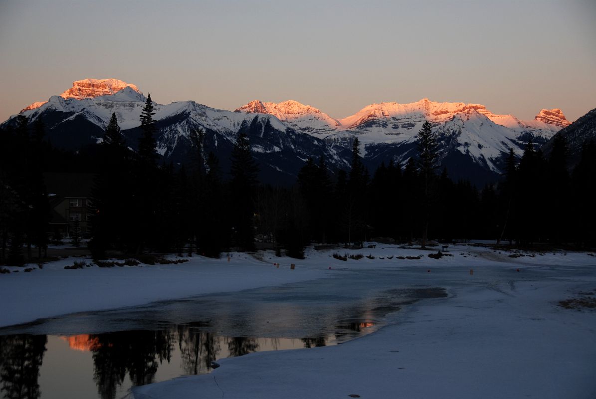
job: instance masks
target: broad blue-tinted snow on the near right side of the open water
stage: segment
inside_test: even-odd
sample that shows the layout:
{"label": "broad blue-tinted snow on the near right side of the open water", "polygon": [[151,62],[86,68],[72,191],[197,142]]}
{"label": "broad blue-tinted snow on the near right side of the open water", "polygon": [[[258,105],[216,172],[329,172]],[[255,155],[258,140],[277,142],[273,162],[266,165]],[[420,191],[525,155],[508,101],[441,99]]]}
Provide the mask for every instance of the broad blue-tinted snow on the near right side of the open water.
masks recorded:
{"label": "broad blue-tinted snow on the near right side of the open water", "polygon": [[[594,258],[471,252],[478,257],[443,263],[458,264],[458,273],[475,265],[471,283],[443,284],[449,298],[393,313],[375,333],[336,347],[222,359],[209,375],[138,386],[134,398],[596,397],[596,312],[558,306],[596,290]],[[408,267],[437,265],[426,258]],[[530,269],[535,277],[520,279]]]}

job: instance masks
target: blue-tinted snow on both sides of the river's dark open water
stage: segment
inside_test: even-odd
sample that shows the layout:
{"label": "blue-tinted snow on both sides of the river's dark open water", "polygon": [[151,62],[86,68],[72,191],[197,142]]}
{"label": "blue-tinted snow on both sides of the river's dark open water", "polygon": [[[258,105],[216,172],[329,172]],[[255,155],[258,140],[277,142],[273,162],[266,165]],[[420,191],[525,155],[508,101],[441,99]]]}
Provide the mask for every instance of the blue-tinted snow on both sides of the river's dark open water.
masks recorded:
{"label": "blue-tinted snow on both sides of the river's dark open water", "polygon": [[[333,252],[374,256],[340,261]],[[134,388],[135,398],[594,398],[596,311],[558,301],[595,296],[596,257],[510,258],[482,247],[431,259],[420,249],[309,250],[298,261],[234,253],[178,265],[64,270],[73,259],[0,275],[0,325],[287,282],[348,268],[396,270],[399,287],[444,287],[387,316],[377,332],[334,347],[218,360],[209,375]],[[418,256],[420,259],[398,259]],[[389,259],[391,257],[391,259]],[[280,268],[274,262],[280,262]],[[290,262],[296,264],[290,270]],[[473,274],[470,273],[473,270]],[[519,270],[519,271],[518,271]],[[356,396],[352,396],[356,397]]]}

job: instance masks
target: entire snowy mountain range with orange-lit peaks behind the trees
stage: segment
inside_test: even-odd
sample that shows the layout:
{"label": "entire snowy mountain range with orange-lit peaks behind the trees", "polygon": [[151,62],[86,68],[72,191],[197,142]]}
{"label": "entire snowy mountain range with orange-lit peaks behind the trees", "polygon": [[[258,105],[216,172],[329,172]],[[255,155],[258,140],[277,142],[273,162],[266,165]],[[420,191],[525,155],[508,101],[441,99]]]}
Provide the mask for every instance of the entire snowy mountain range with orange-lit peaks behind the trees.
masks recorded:
{"label": "entire snowy mountain range with orange-lit peaks behind the trees", "polygon": [[[54,146],[76,150],[101,140],[115,112],[122,134],[134,149],[145,101],[130,83],[83,79],[21,113],[30,122],[41,118]],[[154,107],[157,150],[165,160],[182,162],[191,147],[189,133],[203,128],[205,150],[214,151],[226,171],[235,138],[245,132],[260,163],[262,180],[271,182],[293,180],[309,156],[325,156],[332,169],[349,168],[354,137],[361,142],[361,154],[371,172],[390,159],[403,165],[416,155],[417,133],[429,121],[437,132],[441,163],[449,175],[481,185],[498,178],[510,148],[520,156],[528,141],[544,144],[570,125],[560,109],[543,109],[533,120],[520,120],[492,113],[481,104],[438,103],[427,98],[409,104],[370,104],[343,119],[292,100],[255,100],[234,112],[194,101],[155,103]],[[2,126],[14,124],[15,117]]]}

